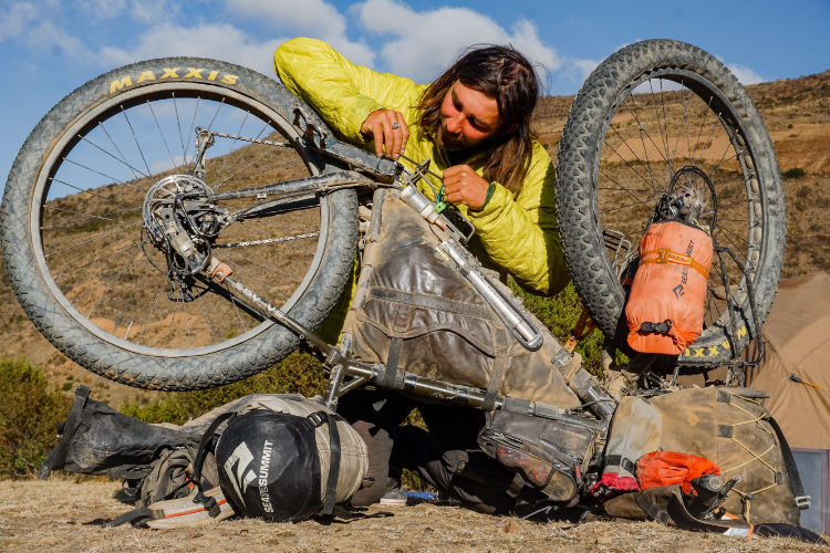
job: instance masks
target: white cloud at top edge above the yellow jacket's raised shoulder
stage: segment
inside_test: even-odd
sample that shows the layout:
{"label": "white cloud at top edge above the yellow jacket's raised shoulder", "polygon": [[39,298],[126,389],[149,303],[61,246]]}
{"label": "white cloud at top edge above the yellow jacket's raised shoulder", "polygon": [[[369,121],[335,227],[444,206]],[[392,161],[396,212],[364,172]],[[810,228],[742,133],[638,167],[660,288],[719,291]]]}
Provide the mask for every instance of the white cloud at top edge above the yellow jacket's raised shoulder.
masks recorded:
{"label": "white cloud at top edge above the yellow jacket's raised shoulder", "polygon": [[324,0],[227,0],[226,3],[232,13],[257,19],[274,33],[321,39],[354,63],[374,64],[372,49],[363,42],[349,40],[346,18]]}

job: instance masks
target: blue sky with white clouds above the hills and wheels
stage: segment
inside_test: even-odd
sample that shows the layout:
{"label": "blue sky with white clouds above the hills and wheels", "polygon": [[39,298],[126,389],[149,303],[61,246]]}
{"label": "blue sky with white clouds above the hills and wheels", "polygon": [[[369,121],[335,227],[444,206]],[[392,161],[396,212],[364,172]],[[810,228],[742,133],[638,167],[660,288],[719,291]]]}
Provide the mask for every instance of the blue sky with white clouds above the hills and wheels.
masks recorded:
{"label": "blue sky with white clouds above the hills and wheels", "polygon": [[273,75],[273,50],[298,35],[418,82],[470,44],[510,43],[537,64],[548,94],[575,94],[619,48],[670,38],[753,84],[830,69],[830,0],[0,0],[0,186],[38,121],[96,75],[165,55]]}

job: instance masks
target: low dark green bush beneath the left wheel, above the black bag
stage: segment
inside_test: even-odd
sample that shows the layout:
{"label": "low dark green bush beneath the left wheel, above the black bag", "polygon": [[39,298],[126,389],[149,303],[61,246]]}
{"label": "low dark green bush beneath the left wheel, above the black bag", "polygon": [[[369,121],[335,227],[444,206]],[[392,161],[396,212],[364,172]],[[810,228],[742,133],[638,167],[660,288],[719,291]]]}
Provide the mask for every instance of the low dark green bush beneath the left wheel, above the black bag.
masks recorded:
{"label": "low dark green bush beneath the left wheel, above the black bag", "polygon": [[294,352],[271,368],[218,388],[165,394],[152,401],[126,403],[121,411],[145,422],[181,425],[215,407],[248,394],[302,394],[311,397],[325,390],[325,372],[312,355]]}

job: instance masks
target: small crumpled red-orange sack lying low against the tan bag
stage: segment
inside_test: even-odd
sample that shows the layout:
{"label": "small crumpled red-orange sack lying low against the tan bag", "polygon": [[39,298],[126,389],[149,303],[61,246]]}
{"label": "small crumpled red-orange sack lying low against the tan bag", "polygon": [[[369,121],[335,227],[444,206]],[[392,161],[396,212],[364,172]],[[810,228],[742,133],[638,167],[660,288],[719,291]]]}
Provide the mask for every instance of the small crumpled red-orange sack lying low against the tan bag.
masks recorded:
{"label": "small crumpled red-orange sack lying low against the tan bag", "polygon": [[637,459],[637,482],[642,490],[655,486],[681,484],[683,492],[691,494],[692,480],[706,474],[720,474],[720,469],[705,457],[676,451],[652,451]]}

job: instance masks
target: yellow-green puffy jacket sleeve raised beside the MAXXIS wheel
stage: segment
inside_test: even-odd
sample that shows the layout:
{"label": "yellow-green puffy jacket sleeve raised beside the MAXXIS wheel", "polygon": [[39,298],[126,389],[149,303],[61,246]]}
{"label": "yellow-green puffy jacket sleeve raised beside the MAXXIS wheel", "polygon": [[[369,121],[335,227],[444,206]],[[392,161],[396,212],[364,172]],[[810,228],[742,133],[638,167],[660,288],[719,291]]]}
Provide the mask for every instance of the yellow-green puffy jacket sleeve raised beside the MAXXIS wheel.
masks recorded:
{"label": "yellow-green puffy jacket sleeve raised beside the MAXXIS wheel", "polygon": [[273,66],[288,90],[318,112],[346,140],[362,144],[360,128],[376,109],[396,109],[411,121],[414,81],[355,65],[325,42],[298,38],[280,45]]}

